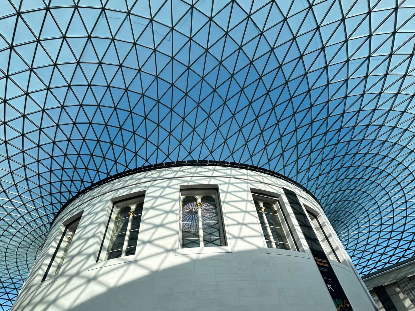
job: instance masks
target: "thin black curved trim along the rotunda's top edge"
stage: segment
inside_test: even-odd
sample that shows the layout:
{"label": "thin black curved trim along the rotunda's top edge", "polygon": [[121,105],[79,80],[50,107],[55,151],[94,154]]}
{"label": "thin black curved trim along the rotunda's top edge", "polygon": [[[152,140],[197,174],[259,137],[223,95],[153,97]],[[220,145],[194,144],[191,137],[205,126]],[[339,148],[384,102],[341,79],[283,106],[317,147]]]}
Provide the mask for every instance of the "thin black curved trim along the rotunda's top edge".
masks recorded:
{"label": "thin black curved trim along the rotunda's top edge", "polygon": [[144,172],[148,172],[150,170],[158,170],[161,168],[177,168],[177,167],[182,167],[182,166],[220,166],[220,167],[227,167],[227,168],[242,168],[245,170],[251,170],[254,172],[258,172],[258,173],[262,173],[262,174],[266,174],[266,175],[271,175],[273,177],[277,177],[279,179],[285,180],[293,185],[295,185],[296,187],[299,187],[301,190],[304,190],[305,192],[307,192],[307,194],[309,194],[319,205],[320,207],[324,210],[324,208],[322,207],[322,205],[320,204],[319,200],[315,197],[314,194],[312,194],[307,188],[305,188],[303,185],[301,185],[300,183],[296,182],[295,180],[292,180],[291,178],[282,175],[280,173],[274,172],[272,170],[268,170],[266,168],[260,168],[258,166],[254,166],[254,165],[247,165],[247,164],[243,164],[243,163],[236,163],[236,162],[228,162],[228,161],[212,161],[212,160],[188,160],[188,161],[173,161],[173,162],[164,162],[164,163],[157,163],[157,164],[150,164],[150,165],[144,165],[142,167],[139,168],[134,168],[132,170],[126,170],[124,172],[121,173],[117,173],[115,175],[111,175],[108,176],[98,182],[93,183],[92,185],[86,187],[85,189],[81,190],[80,192],[78,192],[77,194],[75,194],[73,197],[71,197],[71,199],[68,200],[68,202],[66,202],[65,204],[63,204],[63,206],[61,207],[61,209],[59,209],[59,211],[56,213],[53,221],[51,222],[51,226],[54,224],[55,219],[59,216],[59,214],[61,214],[61,212],[69,205],[71,204],[73,201],[75,201],[76,199],[78,199],[78,197],[81,197],[83,194],[89,192],[90,190],[93,190],[96,187],[99,187],[101,185],[105,185],[108,182],[111,182],[113,180],[117,180],[121,177],[125,177],[125,176],[129,176],[129,175],[134,175],[137,173],[144,173]]}

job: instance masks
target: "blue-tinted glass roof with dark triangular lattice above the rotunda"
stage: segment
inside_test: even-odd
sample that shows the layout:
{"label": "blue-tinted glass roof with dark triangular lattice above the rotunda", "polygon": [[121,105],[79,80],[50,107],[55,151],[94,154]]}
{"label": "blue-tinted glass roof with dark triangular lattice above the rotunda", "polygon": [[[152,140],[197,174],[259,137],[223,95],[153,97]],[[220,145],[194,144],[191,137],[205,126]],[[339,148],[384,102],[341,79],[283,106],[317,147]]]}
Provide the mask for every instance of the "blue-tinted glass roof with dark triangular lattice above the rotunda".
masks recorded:
{"label": "blue-tinted glass roof with dark triangular lattice above the rotunda", "polygon": [[415,2],[0,0],[0,305],[54,214],[227,160],[320,200],[361,275],[415,255]]}

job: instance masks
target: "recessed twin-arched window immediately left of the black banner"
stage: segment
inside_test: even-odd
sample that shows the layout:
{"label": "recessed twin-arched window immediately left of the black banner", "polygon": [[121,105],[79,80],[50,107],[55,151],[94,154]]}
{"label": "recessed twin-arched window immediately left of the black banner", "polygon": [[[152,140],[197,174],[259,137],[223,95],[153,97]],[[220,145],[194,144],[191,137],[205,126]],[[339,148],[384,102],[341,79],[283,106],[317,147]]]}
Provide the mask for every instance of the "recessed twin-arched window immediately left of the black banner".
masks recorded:
{"label": "recessed twin-arched window immediately left of the black banner", "polygon": [[252,196],[267,247],[291,250],[287,234],[283,228],[284,217],[281,217],[283,211],[278,199],[257,194]]}

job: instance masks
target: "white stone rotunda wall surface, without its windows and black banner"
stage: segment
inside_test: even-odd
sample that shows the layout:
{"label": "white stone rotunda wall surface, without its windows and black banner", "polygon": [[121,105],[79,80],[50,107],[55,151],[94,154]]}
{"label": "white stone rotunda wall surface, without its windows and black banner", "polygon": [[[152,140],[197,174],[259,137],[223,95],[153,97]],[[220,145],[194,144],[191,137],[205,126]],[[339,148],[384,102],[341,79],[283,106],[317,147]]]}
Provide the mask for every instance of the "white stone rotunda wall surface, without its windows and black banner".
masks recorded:
{"label": "white stone rotunda wall surface, without its windows and black banner", "polygon": [[[183,185],[218,188],[226,247],[180,249]],[[317,202],[268,175],[222,167],[179,167],[123,177],[98,187],[55,220],[13,311],[290,310],[334,311],[282,187],[321,213],[342,263],[332,262],[355,311],[374,310],[361,279]],[[267,249],[251,189],[281,196],[300,251]],[[96,262],[112,200],[145,191],[136,255]],[[62,222],[83,212],[59,275],[41,282],[61,236]],[[103,250],[105,251],[105,249]]]}

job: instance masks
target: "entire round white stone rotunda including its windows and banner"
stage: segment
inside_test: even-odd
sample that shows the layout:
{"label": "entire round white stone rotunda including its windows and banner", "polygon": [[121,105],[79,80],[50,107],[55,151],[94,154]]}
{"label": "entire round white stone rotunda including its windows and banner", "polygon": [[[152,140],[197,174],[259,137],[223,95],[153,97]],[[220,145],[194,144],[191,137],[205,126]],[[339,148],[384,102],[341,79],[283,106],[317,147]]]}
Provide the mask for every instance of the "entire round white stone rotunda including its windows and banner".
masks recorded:
{"label": "entire round white stone rotunda including its windows and banner", "polygon": [[12,307],[29,310],[376,309],[312,194],[229,164],[144,169],[73,200]]}

